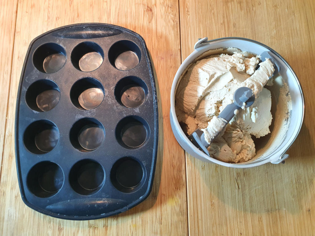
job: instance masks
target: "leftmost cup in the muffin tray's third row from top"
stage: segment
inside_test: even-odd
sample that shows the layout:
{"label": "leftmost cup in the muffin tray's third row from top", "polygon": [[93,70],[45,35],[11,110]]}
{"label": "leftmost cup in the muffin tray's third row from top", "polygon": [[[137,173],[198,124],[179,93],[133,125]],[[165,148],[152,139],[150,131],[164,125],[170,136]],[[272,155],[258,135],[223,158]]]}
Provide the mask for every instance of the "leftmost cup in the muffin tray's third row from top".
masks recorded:
{"label": "leftmost cup in the muffin tray's third row from top", "polygon": [[31,123],[24,132],[24,145],[31,153],[44,154],[50,152],[57,145],[59,130],[48,120]]}

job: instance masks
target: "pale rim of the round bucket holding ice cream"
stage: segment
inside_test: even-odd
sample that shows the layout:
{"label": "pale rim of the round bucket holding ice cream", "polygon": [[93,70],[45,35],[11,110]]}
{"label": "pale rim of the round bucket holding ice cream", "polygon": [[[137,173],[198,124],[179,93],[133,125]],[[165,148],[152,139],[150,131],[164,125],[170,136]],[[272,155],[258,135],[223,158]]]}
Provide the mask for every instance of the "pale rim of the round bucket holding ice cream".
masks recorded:
{"label": "pale rim of the round bucket holding ice cream", "polygon": [[[182,145],[181,141],[185,142],[185,144],[187,144],[189,146],[189,148],[191,150],[186,150],[188,153],[190,153],[192,156],[194,156],[195,158],[198,158],[200,160],[204,160],[204,161],[208,161],[208,162],[213,162],[222,166],[227,166],[227,167],[235,167],[235,168],[246,168],[246,167],[254,167],[254,166],[260,166],[263,164],[266,164],[268,162],[274,162],[274,163],[279,163],[281,162],[281,158],[282,156],[285,154],[285,152],[289,149],[289,147],[294,143],[294,141],[296,140],[298,134],[301,131],[301,127],[303,125],[304,122],[304,116],[305,116],[305,100],[304,100],[304,94],[303,94],[303,90],[300,84],[300,81],[298,80],[294,70],[292,69],[292,67],[289,65],[289,63],[279,54],[277,53],[275,50],[273,50],[272,48],[266,46],[265,44],[261,43],[261,42],[257,42],[255,40],[252,39],[248,39],[248,38],[242,38],[242,37],[223,37],[223,38],[217,38],[217,39],[213,39],[213,40],[209,40],[207,41],[208,38],[203,38],[203,39],[199,39],[198,42],[203,42],[203,45],[201,44],[199,47],[196,47],[198,42],[195,44],[195,50],[182,62],[182,64],[180,65],[180,67],[178,68],[174,80],[173,80],[173,84],[172,84],[172,88],[171,88],[171,96],[170,96],[170,119],[171,119],[171,126],[172,126],[172,130],[173,133],[175,135],[176,140],[180,143],[180,145]],[[291,139],[291,142],[288,142],[284,145],[284,147],[280,150],[278,150],[275,153],[271,153],[269,156],[269,158],[265,158],[263,160],[258,160],[256,162],[242,162],[242,163],[226,163],[220,160],[217,160],[215,158],[209,157],[208,155],[204,154],[202,151],[200,151],[199,149],[197,149],[190,141],[189,139],[186,137],[185,133],[182,131],[182,129],[180,128],[179,122],[177,120],[176,117],[176,113],[175,113],[175,88],[178,82],[178,79],[180,78],[180,76],[182,75],[182,73],[184,72],[184,70],[187,68],[187,66],[192,63],[192,61],[197,58],[198,56],[200,56],[202,53],[210,50],[210,49],[216,49],[219,47],[213,47],[211,48],[211,44],[214,42],[218,42],[218,41],[226,41],[226,40],[240,40],[240,41],[247,41],[247,42],[252,42],[254,44],[257,44],[259,46],[262,46],[263,48],[265,48],[266,50],[271,51],[272,53],[274,53],[278,59],[280,59],[282,62],[284,62],[284,64],[286,65],[287,69],[289,69],[289,71],[292,74],[292,77],[295,79],[295,82],[297,84],[297,86],[299,87],[299,91],[300,91],[300,95],[301,95],[301,102],[302,102],[302,115],[300,120],[300,124],[298,127],[298,130],[295,131],[295,135],[294,138]],[[207,42],[204,42],[207,41]],[[179,140],[181,139],[181,140]],[[280,161],[279,161],[280,160]]]}

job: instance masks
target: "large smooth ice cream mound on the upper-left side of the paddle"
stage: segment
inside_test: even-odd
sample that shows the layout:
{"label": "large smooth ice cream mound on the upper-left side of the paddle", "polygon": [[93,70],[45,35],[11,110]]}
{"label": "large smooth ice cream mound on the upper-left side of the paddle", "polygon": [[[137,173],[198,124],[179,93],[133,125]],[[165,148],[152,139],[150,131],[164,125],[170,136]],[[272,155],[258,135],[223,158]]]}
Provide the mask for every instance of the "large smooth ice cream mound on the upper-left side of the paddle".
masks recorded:
{"label": "large smooth ice cream mound on the upper-left side of the paddle", "polygon": [[[255,68],[256,65],[255,63],[248,64],[247,70],[251,71],[251,68]],[[245,70],[245,59],[241,53],[235,53],[232,56],[221,54],[218,57],[196,62],[188,69],[176,89],[176,106],[187,115],[194,117],[203,97],[207,96],[203,100],[211,98],[210,103],[215,104],[216,101],[222,100],[226,95],[233,94],[237,88],[231,91],[231,84],[240,84],[249,77]],[[235,76],[236,74],[238,76]],[[208,94],[210,92],[216,93]],[[233,96],[230,98],[233,98]],[[230,103],[231,99],[227,104]],[[209,117],[206,119],[207,121],[210,120]]]}

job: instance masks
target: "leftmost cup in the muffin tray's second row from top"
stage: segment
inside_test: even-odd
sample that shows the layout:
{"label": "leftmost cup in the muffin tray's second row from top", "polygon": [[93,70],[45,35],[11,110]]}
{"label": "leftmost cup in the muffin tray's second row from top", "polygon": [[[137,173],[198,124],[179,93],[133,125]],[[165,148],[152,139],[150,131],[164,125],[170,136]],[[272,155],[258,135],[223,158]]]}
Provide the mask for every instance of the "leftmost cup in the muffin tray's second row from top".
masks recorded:
{"label": "leftmost cup in the muffin tray's second row from top", "polygon": [[30,85],[26,91],[26,104],[35,111],[49,111],[59,102],[59,87],[51,80],[38,80]]}

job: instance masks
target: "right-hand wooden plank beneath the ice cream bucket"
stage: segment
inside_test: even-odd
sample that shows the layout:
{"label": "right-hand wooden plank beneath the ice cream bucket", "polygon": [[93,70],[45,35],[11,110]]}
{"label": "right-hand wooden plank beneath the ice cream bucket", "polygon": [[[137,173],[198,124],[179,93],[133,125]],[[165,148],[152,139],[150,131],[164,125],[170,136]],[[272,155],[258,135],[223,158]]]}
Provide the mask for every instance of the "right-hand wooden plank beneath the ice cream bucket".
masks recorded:
{"label": "right-hand wooden plank beneath the ice cream bucket", "polygon": [[190,235],[315,235],[314,11],[313,0],[180,0],[183,60],[198,38],[257,40],[293,67],[306,102],[285,164],[232,169],[186,154]]}

